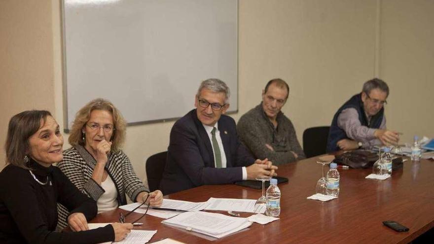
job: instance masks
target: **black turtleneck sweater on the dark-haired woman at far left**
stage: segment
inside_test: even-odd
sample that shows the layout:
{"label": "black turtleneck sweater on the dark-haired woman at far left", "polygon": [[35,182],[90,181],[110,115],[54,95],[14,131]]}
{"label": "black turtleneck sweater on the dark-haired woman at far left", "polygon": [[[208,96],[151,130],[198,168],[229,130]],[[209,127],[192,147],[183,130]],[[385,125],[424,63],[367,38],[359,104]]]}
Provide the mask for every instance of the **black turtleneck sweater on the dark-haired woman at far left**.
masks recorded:
{"label": "black turtleneck sweater on the dark-haired woman at far left", "polygon": [[114,241],[111,225],[89,231],[54,232],[57,203],[90,220],[97,214],[94,200],[83,195],[57,167],[31,160],[29,170],[7,165],[0,173],[0,244],[92,244]]}

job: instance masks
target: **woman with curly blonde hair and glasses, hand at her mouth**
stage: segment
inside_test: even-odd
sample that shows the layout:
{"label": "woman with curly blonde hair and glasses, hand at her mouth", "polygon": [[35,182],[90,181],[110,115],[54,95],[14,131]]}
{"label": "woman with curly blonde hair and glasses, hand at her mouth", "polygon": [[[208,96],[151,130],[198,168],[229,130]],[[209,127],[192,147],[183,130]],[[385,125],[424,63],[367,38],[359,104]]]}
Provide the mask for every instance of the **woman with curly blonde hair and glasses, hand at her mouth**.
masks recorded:
{"label": "woman with curly blonde hair and glasses, hand at her mouth", "polygon": [[[72,147],[58,164],[78,189],[97,202],[98,212],[127,204],[125,195],[134,202],[149,195],[151,206],[163,202],[161,191],[149,193],[120,149],[125,134],[126,122],[119,110],[105,99],[92,100],[78,110],[68,139]],[[60,227],[66,225],[68,214],[59,206]]]}

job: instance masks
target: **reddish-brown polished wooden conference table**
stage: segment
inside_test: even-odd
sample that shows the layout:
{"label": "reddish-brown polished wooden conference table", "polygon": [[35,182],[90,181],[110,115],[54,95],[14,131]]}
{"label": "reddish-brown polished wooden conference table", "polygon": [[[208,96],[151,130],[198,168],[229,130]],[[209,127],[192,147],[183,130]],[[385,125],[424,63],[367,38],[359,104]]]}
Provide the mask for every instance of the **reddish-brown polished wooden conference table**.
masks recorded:
{"label": "reddish-brown polished wooden conference table", "polygon": [[[266,225],[253,223],[247,230],[211,240],[197,234],[161,224],[163,220],[146,215],[135,229],[158,230],[150,242],[172,238],[188,244],[255,243],[408,243],[434,227],[434,162],[404,162],[403,169],[379,181],[365,179],[367,170],[340,173],[339,198],[320,202],[306,197],[315,193],[322,176],[318,157],[279,166],[278,174],[289,177],[279,184],[282,192],[280,219]],[[328,167],[325,166],[326,170]],[[325,171],[326,171],[325,170]],[[205,202],[210,197],[257,199],[261,190],[238,185],[206,185],[165,196],[165,198]],[[121,209],[98,214],[91,222],[118,221]],[[127,212],[127,211],[124,211]],[[225,213],[224,211],[217,211]],[[252,213],[243,213],[242,217]],[[131,216],[132,215],[132,216]],[[139,213],[128,219],[135,220]],[[382,224],[394,220],[410,229],[398,233]]]}

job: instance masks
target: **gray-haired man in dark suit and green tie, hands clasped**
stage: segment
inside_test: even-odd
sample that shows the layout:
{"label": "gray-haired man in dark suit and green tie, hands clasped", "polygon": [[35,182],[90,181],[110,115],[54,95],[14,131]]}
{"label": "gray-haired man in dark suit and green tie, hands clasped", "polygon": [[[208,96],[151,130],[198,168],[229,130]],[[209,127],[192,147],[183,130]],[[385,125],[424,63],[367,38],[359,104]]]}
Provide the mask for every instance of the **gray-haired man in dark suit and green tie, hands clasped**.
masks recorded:
{"label": "gray-haired man in dark suit and green tie, hands clasped", "polygon": [[172,127],[166,168],[160,183],[164,195],[207,184],[275,175],[267,159],[255,160],[238,140],[235,121],[224,115],[229,88],[219,79],[201,83],[191,110]]}

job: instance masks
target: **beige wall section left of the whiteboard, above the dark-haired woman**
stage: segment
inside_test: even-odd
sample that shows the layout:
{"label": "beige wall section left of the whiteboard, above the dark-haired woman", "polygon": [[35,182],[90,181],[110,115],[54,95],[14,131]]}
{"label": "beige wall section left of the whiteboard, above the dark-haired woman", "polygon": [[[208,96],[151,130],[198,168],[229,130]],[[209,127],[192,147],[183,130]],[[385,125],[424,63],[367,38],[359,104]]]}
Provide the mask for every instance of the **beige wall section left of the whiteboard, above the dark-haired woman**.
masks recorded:
{"label": "beige wall section left of the whiteboard, above the dark-haired woman", "polygon": [[0,1],[0,169],[10,117],[54,111],[51,1]]}

